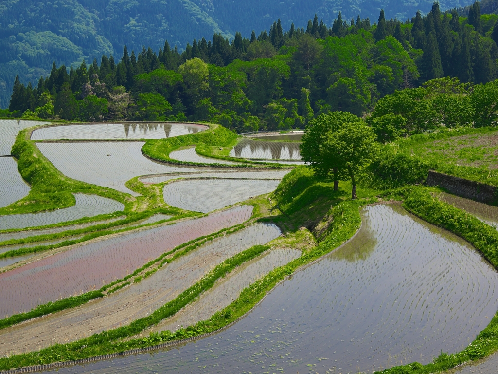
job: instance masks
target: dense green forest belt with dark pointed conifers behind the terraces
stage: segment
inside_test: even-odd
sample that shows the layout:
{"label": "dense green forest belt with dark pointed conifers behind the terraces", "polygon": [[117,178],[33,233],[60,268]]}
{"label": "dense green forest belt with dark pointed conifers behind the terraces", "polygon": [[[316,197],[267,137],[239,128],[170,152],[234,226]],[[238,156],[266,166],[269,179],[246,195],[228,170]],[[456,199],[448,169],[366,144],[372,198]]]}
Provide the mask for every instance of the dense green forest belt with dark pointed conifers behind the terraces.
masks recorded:
{"label": "dense green forest belt with dark pointed conifers behind the terraces", "polygon": [[[54,62],[50,75],[38,82],[25,86],[16,78],[3,115],[216,121],[249,132],[303,128],[336,110],[362,117],[375,108],[369,118],[387,139],[392,134],[381,133],[390,131],[391,120],[405,121],[401,128],[410,134],[430,128],[426,119],[435,117],[427,116],[439,110],[429,100],[435,92],[451,91],[467,103],[481,86],[494,89],[494,83],[483,84],[497,78],[497,20],[498,15],[481,14],[479,2],[467,17],[456,9],[441,12],[434,3],[427,15],[417,12],[404,22],[386,19],[383,10],[373,24],[339,13],[331,27],[315,16],[306,28],[292,24],[284,32],[278,20],[269,33],[252,32],[249,39],[238,32],[231,42],[217,33],[212,41],[194,39],[182,53],[167,41],[158,53],[124,47],[119,62],[103,55],[100,62],[83,62],[69,73]],[[437,91],[429,81],[442,77],[455,79],[438,83]],[[405,107],[386,106],[389,100],[398,100],[398,106],[421,103],[410,110],[423,123],[408,118]],[[475,112],[469,109],[466,116]],[[386,123],[384,115],[399,117]],[[448,126],[461,124],[455,121]]]}

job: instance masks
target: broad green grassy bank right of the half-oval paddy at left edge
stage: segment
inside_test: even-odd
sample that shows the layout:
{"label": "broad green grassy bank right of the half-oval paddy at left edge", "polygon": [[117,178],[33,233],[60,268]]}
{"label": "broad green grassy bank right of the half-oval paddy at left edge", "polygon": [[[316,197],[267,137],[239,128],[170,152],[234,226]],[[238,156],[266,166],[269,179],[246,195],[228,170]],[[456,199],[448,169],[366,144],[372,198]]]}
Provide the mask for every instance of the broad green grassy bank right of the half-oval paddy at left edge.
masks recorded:
{"label": "broad green grassy bank right of the half-oval paddy at left edge", "polygon": [[124,203],[124,211],[131,209],[133,198],[111,188],[90,185],[72,180],[60,173],[28,140],[29,129],[22,130],[12,147],[12,155],[18,160],[17,168],[22,178],[29,183],[29,194],[0,208],[0,215],[21,214],[66,208],[75,204],[73,193],[96,194]]}

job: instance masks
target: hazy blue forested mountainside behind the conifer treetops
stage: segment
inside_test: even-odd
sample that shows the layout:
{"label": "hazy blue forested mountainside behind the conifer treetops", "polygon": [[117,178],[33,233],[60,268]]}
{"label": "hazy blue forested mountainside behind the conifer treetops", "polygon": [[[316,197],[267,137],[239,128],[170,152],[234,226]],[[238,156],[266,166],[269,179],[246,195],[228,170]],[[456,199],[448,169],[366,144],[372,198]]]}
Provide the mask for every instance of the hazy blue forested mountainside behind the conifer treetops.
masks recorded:
{"label": "hazy blue forested mountainside behind the conifer treetops", "polygon": [[[442,0],[443,10],[470,0]],[[358,14],[377,19],[380,8],[387,18],[406,19],[416,10],[429,11],[431,0],[418,2],[370,0],[4,0],[0,4],[0,107],[8,106],[16,74],[22,83],[47,75],[53,61],[79,65],[102,54],[121,55],[124,45],[154,50],[168,40],[180,50],[187,42],[214,33],[246,37],[281,19],[306,27],[309,17],[332,24],[340,10],[348,21]]]}

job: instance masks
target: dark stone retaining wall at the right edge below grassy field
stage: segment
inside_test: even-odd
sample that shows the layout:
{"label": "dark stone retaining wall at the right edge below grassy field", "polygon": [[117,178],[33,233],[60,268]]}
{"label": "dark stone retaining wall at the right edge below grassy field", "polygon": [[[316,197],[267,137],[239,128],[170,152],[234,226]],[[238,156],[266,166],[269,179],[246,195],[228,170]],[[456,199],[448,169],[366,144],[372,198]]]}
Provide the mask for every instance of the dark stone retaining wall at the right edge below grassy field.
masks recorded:
{"label": "dark stone retaining wall at the right edge below grassy field", "polygon": [[494,204],[496,202],[497,187],[485,185],[484,183],[469,181],[433,171],[429,172],[425,183],[427,186],[442,187],[455,195],[487,204]]}

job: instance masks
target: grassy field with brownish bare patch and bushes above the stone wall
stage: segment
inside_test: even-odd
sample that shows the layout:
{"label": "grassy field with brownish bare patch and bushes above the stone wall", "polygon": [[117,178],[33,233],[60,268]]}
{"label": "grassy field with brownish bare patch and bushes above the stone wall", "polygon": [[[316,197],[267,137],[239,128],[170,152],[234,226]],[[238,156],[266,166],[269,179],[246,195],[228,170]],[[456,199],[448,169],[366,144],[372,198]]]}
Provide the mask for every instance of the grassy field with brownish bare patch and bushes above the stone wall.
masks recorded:
{"label": "grassy field with brownish bare patch and bushes above the stone wall", "polygon": [[441,129],[383,146],[369,168],[374,185],[423,183],[429,170],[498,187],[497,128]]}

